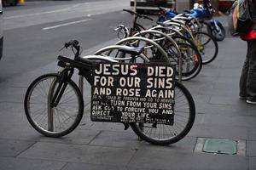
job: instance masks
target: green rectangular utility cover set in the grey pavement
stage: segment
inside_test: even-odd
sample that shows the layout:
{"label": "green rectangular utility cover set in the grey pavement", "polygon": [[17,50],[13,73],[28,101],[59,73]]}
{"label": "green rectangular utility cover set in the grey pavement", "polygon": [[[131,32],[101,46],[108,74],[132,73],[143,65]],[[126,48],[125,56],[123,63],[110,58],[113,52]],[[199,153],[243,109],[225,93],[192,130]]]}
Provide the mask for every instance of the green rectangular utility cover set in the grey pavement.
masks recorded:
{"label": "green rectangular utility cover set in the grey pavement", "polygon": [[234,155],[237,152],[237,142],[230,139],[206,139],[203,151]]}

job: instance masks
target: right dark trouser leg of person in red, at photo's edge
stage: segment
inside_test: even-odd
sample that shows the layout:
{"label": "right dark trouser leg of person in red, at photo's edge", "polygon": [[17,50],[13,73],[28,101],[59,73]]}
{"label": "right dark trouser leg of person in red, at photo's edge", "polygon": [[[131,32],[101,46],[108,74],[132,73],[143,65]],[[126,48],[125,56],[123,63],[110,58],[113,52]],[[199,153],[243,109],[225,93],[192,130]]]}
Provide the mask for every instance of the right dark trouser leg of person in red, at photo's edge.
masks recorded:
{"label": "right dark trouser leg of person in red, at photo's edge", "polygon": [[247,99],[256,102],[256,39],[249,42]]}

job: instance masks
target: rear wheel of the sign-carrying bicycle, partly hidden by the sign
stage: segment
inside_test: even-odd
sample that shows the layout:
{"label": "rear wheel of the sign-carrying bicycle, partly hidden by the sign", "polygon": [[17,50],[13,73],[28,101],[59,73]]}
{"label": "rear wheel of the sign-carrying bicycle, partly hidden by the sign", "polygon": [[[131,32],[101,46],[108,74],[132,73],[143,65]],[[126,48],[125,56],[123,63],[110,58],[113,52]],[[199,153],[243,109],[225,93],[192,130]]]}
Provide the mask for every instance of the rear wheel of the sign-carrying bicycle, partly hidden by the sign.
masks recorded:
{"label": "rear wheel of the sign-carrying bicycle, partly hidden by the sign", "polygon": [[[131,123],[131,128],[133,129],[133,131],[135,133],[137,133],[137,136],[140,137],[141,139],[147,141],[148,143],[151,144],[160,144],[160,145],[166,145],[166,144],[173,144],[176,143],[177,141],[179,141],[180,139],[183,139],[190,131],[190,129],[192,128],[194,122],[195,122],[195,102],[194,99],[192,98],[191,94],[189,93],[189,90],[187,88],[185,88],[181,83],[179,82],[175,82],[175,105],[174,105],[174,123],[172,126],[170,125],[164,125],[164,124],[160,124],[160,127],[158,129],[159,133],[156,133],[156,129],[157,126],[155,127],[146,127],[145,124],[146,123]],[[184,105],[181,103],[184,101]],[[188,117],[185,115],[183,116],[183,114],[185,113],[185,107],[188,107],[188,112],[186,112],[188,115]],[[185,122],[186,124],[184,125],[184,127],[182,127],[183,129],[181,129],[181,122],[183,122],[183,120],[179,120],[177,119],[177,117],[179,119],[182,118],[188,118],[187,122]],[[143,127],[142,127],[143,126]],[[161,128],[163,127],[163,128]],[[172,127],[173,132],[171,131],[171,129],[169,127]],[[176,128],[177,129],[176,129]],[[149,128],[147,130],[145,130],[145,128]],[[154,128],[154,137],[152,135],[152,129]],[[172,134],[169,135],[162,135],[162,137],[160,139],[160,133],[165,133],[165,131],[169,130]],[[181,129],[180,132],[178,132],[178,130]],[[167,133],[167,131],[166,131]],[[166,136],[166,138],[165,138]]]}

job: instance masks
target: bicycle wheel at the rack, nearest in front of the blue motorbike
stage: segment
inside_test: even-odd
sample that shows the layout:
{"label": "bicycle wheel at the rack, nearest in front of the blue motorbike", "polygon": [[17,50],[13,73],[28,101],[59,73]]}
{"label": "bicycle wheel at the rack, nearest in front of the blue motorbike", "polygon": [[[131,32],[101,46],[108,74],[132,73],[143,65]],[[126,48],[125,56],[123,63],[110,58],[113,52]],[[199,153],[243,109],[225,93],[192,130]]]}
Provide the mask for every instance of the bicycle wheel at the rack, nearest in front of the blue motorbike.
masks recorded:
{"label": "bicycle wheel at the rack, nearest in front of the blue motorbike", "polygon": [[[195,37],[195,44],[197,45],[198,51],[201,54],[202,64],[207,65],[216,59],[218,55],[217,41],[206,32],[195,32],[193,36]],[[206,40],[202,42],[201,37],[204,37]],[[211,53],[209,52],[210,50],[212,50]]]}

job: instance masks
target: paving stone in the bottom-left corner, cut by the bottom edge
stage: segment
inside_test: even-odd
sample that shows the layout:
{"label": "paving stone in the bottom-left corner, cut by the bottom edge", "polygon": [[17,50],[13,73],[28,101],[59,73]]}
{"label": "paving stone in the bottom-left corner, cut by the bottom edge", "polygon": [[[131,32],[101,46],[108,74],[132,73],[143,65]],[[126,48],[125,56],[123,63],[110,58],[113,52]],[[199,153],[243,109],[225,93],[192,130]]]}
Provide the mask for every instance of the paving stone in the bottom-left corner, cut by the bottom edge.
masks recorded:
{"label": "paving stone in the bottom-left corner, cut by the bottom edge", "polygon": [[0,170],[61,170],[66,162],[0,157]]}

